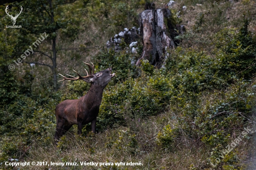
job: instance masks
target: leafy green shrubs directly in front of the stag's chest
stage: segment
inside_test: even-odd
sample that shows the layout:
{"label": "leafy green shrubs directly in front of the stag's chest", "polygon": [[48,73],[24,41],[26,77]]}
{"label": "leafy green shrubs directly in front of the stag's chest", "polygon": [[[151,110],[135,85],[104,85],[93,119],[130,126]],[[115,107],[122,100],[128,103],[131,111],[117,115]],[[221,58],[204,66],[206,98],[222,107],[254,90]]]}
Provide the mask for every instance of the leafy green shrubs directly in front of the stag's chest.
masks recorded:
{"label": "leafy green shrubs directly in front of the stag's chest", "polygon": [[151,78],[128,78],[123,83],[109,88],[103,94],[101,102],[101,126],[123,124],[123,114],[127,109],[133,115],[139,111],[143,113],[142,116],[156,115],[174,94],[171,80],[155,70]]}

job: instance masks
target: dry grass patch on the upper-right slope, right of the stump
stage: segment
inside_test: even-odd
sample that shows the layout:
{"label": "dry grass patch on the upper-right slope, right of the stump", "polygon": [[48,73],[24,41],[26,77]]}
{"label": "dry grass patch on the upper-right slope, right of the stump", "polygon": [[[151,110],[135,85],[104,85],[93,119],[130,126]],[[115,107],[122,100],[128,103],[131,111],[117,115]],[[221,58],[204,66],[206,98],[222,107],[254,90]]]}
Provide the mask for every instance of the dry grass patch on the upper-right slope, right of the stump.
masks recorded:
{"label": "dry grass patch on the upper-right slope, right of the stump", "polygon": [[[182,11],[183,6],[187,7],[185,11]],[[173,10],[181,11],[180,18],[187,30],[187,36],[181,43],[182,47],[210,53],[214,47],[215,34],[225,27],[239,27],[244,14],[251,18],[249,30],[256,31],[256,3],[252,0],[232,3],[224,0],[177,0]],[[203,15],[202,25],[197,27],[200,15]]]}

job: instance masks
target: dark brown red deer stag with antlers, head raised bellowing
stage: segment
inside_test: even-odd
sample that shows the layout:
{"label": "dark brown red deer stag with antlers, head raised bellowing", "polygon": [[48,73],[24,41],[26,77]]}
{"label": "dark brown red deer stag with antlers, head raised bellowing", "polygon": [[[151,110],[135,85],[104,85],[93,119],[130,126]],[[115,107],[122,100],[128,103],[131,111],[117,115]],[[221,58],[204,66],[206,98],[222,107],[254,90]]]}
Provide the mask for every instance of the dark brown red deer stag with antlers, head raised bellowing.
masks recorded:
{"label": "dark brown red deer stag with antlers, head raised bellowing", "polygon": [[81,76],[78,72],[74,71],[79,77],[66,78],[61,75],[64,80],[79,80],[82,79],[87,83],[91,83],[90,90],[83,97],[75,100],[65,100],[56,106],[56,132],[54,135],[55,140],[59,140],[73,124],[78,126],[78,134],[82,133],[82,125],[92,123],[92,131],[95,133],[96,118],[98,116],[102,93],[108,82],[115,76],[111,74],[111,68],[97,72],[94,74],[94,65],[89,65],[89,74]]}

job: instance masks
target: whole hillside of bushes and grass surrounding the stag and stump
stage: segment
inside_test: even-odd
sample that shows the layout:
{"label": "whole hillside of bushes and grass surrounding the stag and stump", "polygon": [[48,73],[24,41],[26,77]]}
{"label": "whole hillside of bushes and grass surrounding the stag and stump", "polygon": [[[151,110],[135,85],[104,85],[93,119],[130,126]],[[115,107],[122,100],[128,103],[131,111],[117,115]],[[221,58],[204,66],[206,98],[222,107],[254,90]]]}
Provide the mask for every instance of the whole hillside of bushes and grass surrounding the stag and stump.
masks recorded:
{"label": "whole hillside of bushes and grass surrounding the stag and stump", "polygon": [[[40,3],[39,3],[40,2]],[[54,0],[14,2],[23,7],[16,25],[0,6],[0,166],[5,162],[139,162],[143,166],[90,169],[255,169],[256,4],[250,0],[177,0],[171,11],[186,33],[161,69],[124,50],[107,50],[107,40],[138,26],[145,0]],[[155,1],[163,7],[168,1]],[[186,6],[185,10],[182,7]],[[48,13],[50,11],[51,13]],[[181,12],[178,12],[181,11]],[[25,14],[26,13],[26,14]],[[40,15],[39,15],[40,14]],[[51,17],[54,17],[54,21]],[[13,60],[46,32],[28,56]],[[55,45],[54,45],[55,42]],[[55,51],[54,51],[55,49]],[[55,60],[54,60],[55,56]],[[73,126],[54,145],[55,107],[83,96],[83,81],[57,83],[56,73],[75,76],[82,61],[96,71],[112,67],[115,79],[103,93],[96,134]],[[15,65],[10,71],[8,66]],[[50,65],[50,66],[49,66]],[[223,153],[247,129],[228,154]],[[39,166],[38,169],[88,169]],[[20,169],[34,169],[33,166]]]}

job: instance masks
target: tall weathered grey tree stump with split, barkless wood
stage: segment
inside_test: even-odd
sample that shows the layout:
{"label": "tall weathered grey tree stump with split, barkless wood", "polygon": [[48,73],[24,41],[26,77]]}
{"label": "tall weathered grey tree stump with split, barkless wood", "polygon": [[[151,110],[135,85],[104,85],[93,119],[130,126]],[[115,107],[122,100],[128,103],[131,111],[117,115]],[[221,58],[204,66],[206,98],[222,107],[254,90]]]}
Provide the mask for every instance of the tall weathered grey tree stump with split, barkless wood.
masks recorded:
{"label": "tall weathered grey tree stump with split, barkless wood", "polygon": [[148,59],[151,65],[160,66],[166,58],[166,49],[174,48],[179,42],[173,39],[178,33],[175,31],[175,20],[168,8],[150,9],[141,13],[141,35],[143,38],[143,51],[136,65],[141,59]]}

